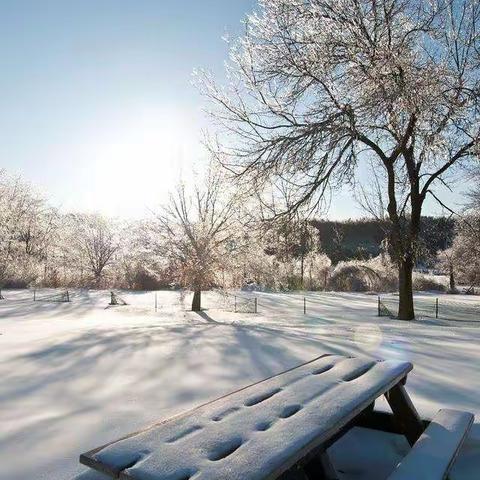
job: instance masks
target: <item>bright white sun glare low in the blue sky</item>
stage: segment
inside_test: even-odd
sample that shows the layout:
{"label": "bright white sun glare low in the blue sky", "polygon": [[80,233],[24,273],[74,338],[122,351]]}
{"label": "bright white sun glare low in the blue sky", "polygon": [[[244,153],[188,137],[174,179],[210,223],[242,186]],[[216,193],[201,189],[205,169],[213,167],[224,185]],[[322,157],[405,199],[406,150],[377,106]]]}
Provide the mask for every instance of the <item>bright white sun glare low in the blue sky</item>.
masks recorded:
{"label": "bright white sun glare low in the blue sky", "polygon": [[181,114],[152,109],[125,117],[99,125],[89,146],[92,185],[85,203],[91,210],[137,216],[188,177],[201,149],[199,134]]}

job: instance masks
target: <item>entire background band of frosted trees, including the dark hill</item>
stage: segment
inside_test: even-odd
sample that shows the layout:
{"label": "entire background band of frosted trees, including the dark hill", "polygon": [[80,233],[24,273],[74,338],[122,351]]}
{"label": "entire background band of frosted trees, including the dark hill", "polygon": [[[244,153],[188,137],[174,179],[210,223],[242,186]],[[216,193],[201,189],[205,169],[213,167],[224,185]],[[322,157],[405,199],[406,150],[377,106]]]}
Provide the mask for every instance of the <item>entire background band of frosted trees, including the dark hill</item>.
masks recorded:
{"label": "entire background band of frosted trees, including the dark hill", "polygon": [[[0,172],[0,287],[397,289],[381,222],[297,215],[255,224],[244,206],[214,174],[193,196],[182,186],[157,213],[126,222],[60,212]],[[448,275],[452,291],[478,284],[479,232],[478,209],[458,221],[424,217],[418,266]],[[418,274],[414,281],[416,289],[448,287]]]}

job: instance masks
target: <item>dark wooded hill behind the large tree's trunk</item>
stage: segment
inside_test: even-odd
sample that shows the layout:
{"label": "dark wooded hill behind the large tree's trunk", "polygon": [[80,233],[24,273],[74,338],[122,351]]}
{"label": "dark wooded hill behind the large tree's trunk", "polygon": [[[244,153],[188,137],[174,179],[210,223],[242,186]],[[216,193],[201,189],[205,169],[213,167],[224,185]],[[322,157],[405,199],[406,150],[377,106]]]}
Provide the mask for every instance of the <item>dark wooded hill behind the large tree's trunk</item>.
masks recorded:
{"label": "dark wooded hill behind the large tree's trunk", "polygon": [[[313,220],[322,251],[333,263],[366,259],[380,254],[385,238],[382,223],[373,219],[339,221]],[[447,217],[422,217],[418,264],[431,266],[438,250],[451,245],[455,222]]]}

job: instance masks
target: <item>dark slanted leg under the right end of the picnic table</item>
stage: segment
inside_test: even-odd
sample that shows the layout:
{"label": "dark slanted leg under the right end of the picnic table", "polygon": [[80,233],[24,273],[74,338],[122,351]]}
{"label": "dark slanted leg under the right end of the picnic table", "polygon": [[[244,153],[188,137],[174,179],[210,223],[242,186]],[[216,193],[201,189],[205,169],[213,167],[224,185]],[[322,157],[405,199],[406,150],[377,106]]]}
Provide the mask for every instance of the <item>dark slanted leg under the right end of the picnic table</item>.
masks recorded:
{"label": "dark slanted leg under the right end of the picnic table", "polygon": [[385,394],[385,397],[400,430],[407,437],[408,443],[413,445],[423,433],[425,427],[405,387],[398,383]]}

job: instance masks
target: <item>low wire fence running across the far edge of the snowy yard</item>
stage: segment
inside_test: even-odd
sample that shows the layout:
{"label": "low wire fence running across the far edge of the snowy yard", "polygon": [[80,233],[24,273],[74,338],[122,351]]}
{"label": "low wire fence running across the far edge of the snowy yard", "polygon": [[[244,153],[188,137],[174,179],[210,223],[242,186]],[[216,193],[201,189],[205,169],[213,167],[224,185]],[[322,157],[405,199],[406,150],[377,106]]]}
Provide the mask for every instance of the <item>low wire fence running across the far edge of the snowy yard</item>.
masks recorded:
{"label": "low wire fence running across the far edge of the snowy yard", "polygon": [[[191,292],[185,290],[158,291],[105,291],[89,289],[60,290],[54,288],[35,288],[25,290],[0,290],[2,305],[12,302],[68,302],[65,308],[75,308],[75,305],[91,305],[108,308],[112,305],[124,305],[122,310],[130,313],[159,313],[163,316],[191,309]],[[460,298],[461,297],[461,298]],[[276,315],[279,311],[285,315],[305,315],[316,318],[325,315],[333,308],[355,310],[357,301],[365,305],[374,305],[376,297],[355,297],[352,294],[335,292],[288,292],[284,294],[268,294],[264,292],[243,292],[215,290],[202,294],[202,309],[223,310],[233,313]],[[371,303],[370,303],[371,302]],[[377,311],[371,308],[379,317],[395,318],[398,312],[399,297],[395,294],[378,296]],[[70,305],[70,306],[67,306]],[[364,308],[360,305],[359,308]],[[415,315],[418,320],[431,321],[434,324],[450,326],[480,327],[480,301],[471,296],[416,295],[414,297]],[[342,313],[338,313],[341,315]],[[365,314],[365,313],[363,313]],[[302,315],[302,316],[303,316]],[[367,314],[368,315],[368,314]]]}

